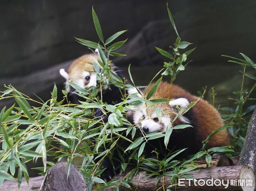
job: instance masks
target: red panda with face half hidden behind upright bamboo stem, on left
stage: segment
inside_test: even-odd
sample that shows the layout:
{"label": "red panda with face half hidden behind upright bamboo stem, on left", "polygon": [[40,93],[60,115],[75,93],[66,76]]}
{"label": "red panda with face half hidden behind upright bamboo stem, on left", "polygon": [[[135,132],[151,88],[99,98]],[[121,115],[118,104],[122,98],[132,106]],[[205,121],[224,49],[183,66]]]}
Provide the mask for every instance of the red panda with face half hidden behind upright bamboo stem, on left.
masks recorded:
{"label": "red panda with face half hidden behind upright bamboo stem, on left", "polygon": [[[60,69],[60,74],[63,76],[67,81],[76,83],[82,88],[88,88],[90,86],[97,86],[99,84],[99,81],[97,80],[97,74],[95,72],[95,69],[93,67],[93,62],[98,64],[99,57],[99,51],[98,49],[95,50],[96,54],[85,54],[78,59],[76,59],[68,68],[68,72],[64,70],[64,68]],[[100,66],[99,66],[100,68]],[[112,71],[118,75],[122,80],[123,76],[122,73],[118,70],[116,66],[114,66],[113,63],[111,63],[111,69]],[[82,100],[79,95],[74,94],[73,92],[78,92],[75,88],[70,86],[68,83],[66,83],[67,91],[68,91],[68,100],[71,103],[80,104],[79,101]],[[107,86],[105,83],[103,84],[102,88],[102,102],[108,103],[108,104],[116,104],[120,103],[122,101],[123,95],[127,94],[126,90],[121,90],[120,88],[114,86],[113,84],[110,84]],[[98,89],[99,92],[99,89]],[[102,114],[100,110],[98,110],[99,115]],[[98,115],[98,114],[97,114]],[[96,116],[98,117],[98,116]]]}

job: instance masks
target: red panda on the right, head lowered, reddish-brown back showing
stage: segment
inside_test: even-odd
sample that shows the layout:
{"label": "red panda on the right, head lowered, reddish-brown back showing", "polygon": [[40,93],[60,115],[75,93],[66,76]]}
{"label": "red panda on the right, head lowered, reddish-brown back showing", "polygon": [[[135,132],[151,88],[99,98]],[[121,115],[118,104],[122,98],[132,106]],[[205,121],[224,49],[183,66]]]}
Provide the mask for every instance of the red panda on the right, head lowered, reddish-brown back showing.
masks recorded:
{"label": "red panda on the right, head lowered, reddish-brown back showing", "polygon": [[[151,87],[153,84],[151,84]],[[131,93],[131,92],[130,92]],[[143,92],[145,94],[145,92]],[[210,105],[206,100],[193,96],[188,91],[177,85],[161,82],[157,91],[151,99],[172,99],[167,103],[156,103],[154,106],[146,107],[145,104],[139,105],[128,112],[128,118],[131,123],[137,124],[143,133],[165,132],[168,125],[189,124],[193,128],[173,129],[170,136],[168,150],[178,150],[187,148],[181,155],[195,154],[202,147],[202,141],[209,134],[224,125],[218,111]],[[198,101],[197,101],[198,100]],[[173,122],[173,119],[179,112],[184,111],[189,103],[197,101],[197,103],[183,115],[179,115]],[[180,108],[178,111],[177,106]],[[161,108],[162,117],[157,118],[155,108]],[[222,130],[215,134],[207,144],[207,147],[226,146],[229,145],[229,134],[227,130]],[[146,148],[146,157],[152,157],[152,150],[156,148],[157,140],[148,141]],[[162,141],[163,143],[163,141]],[[163,144],[165,148],[165,145]]]}

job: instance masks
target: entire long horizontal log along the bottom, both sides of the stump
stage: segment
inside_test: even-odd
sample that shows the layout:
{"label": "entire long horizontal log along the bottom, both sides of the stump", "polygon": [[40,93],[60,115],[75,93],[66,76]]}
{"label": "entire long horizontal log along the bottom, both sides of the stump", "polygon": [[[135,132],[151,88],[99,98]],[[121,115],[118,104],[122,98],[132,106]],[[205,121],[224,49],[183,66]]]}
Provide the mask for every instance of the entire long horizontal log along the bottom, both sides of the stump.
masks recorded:
{"label": "entire long horizontal log along the bottom, both sides of the stump", "polygon": [[[61,177],[61,173],[58,171],[55,171],[57,176]],[[189,186],[189,180],[184,181],[183,184],[185,186],[177,186],[177,191],[253,191],[255,188],[255,178],[253,175],[253,171],[248,166],[226,166],[226,167],[215,167],[215,168],[204,168],[201,169],[198,172],[195,172],[194,174],[191,174],[193,177],[195,177],[196,180],[204,180],[207,179],[219,179],[223,180],[224,183],[227,183],[227,180],[253,180],[252,186],[244,187],[242,186],[228,186],[227,188],[224,188],[224,186],[195,186],[193,181],[191,181],[191,184]],[[114,177],[115,179],[124,179],[125,174],[117,175]],[[155,185],[156,177],[148,178],[146,177],[145,171],[140,172],[140,174],[137,174],[136,176],[132,177],[131,180],[134,181],[134,184],[132,184],[132,190],[135,190],[137,188],[137,191],[156,191],[158,188],[160,188],[162,185],[165,186],[165,189],[168,185],[170,185],[170,179],[171,177],[165,177],[164,182],[163,178],[161,178],[160,182]],[[33,177],[29,179],[29,186],[26,184],[25,181],[22,182],[20,190],[19,191],[40,191],[41,183],[43,182],[44,177]],[[63,181],[66,179],[64,178]],[[182,182],[181,182],[182,183]],[[81,185],[78,185],[81,186]],[[1,191],[18,191],[17,189],[17,183],[14,181],[5,181],[3,185],[0,187]],[[80,189],[80,188],[79,188]],[[77,190],[79,190],[77,189]],[[94,190],[96,187],[94,187]],[[173,188],[174,189],[174,188]],[[130,189],[120,187],[119,191],[131,191]],[[160,189],[163,190],[163,189]],[[64,190],[63,190],[64,191]],[[80,191],[80,190],[79,190]],[[102,189],[102,191],[113,191],[113,188],[105,188]]]}

